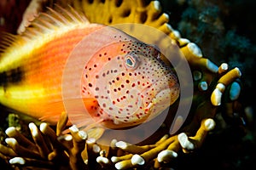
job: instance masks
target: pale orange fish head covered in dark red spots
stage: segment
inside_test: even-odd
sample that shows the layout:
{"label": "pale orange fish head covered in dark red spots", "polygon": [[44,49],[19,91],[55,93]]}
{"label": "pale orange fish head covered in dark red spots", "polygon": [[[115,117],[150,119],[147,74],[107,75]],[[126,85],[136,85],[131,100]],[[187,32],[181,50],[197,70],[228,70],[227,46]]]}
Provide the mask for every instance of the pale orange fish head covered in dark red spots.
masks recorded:
{"label": "pale orange fish head covered in dark red spots", "polygon": [[110,128],[147,122],[179,96],[175,72],[158,48],[134,39],[101,48],[84,67],[82,94],[95,98],[91,116]]}

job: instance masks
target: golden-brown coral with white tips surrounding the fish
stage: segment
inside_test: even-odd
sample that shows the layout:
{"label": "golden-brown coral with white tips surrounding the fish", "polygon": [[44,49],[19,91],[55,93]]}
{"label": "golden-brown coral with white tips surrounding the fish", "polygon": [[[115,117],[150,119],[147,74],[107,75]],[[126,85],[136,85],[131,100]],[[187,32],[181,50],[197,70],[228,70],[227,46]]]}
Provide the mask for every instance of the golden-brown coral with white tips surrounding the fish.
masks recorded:
{"label": "golden-brown coral with white tips surrounding the fish", "polygon": [[[62,5],[63,2],[57,1]],[[178,2],[179,5],[184,4],[183,1]],[[201,1],[191,2],[192,7],[195,2],[198,3],[196,3],[197,6],[194,6],[198,10],[200,5],[204,4]],[[165,1],[163,3],[166,4]],[[25,18],[30,9],[35,8],[34,5],[41,6],[42,3],[33,4],[27,8]],[[54,7],[52,1],[48,5]],[[97,144],[95,139],[88,138],[87,133],[80,131],[75,126],[67,128],[66,113],[62,113],[56,127],[50,127],[45,122],[39,122],[38,126],[30,122],[28,124],[30,133],[26,133],[26,136],[20,133],[16,127],[8,127],[5,131],[8,138],[4,140],[4,144],[0,145],[0,157],[7,161],[10,167],[21,169],[171,168],[173,163],[175,164],[175,160],[183,159],[184,156],[200,151],[201,147],[206,145],[206,140],[209,142],[209,134],[219,133],[223,130],[221,123],[224,126],[229,126],[230,123],[232,127],[236,127],[237,133],[241,133],[241,136],[244,134],[246,120],[244,105],[241,103],[242,72],[236,65],[228,62],[220,62],[219,65],[215,65],[212,59],[206,57],[204,50],[199,48],[197,42],[190,42],[190,38],[181,36],[180,31],[194,31],[195,26],[189,25],[191,20],[183,19],[183,22],[177,26],[180,31],[173,29],[170,25],[172,17],[163,12],[159,1],[83,0],[73,1],[70,5],[83,11],[90,22],[104,25],[138,23],[153,26],[171,37],[187,59],[193,76],[194,94],[189,116],[177,133],[169,133],[171,122],[168,120],[170,117],[167,116],[164,124],[152,138],[146,139],[140,144],[129,144],[123,140],[113,139],[109,146]],[[99,8],[101,10],[98,10]],[[44,8],[39,9],[40,11],[44,10]],[[188,10],[192,9],[188,8]],[[195,14],[195,11],[194,13],[193,11],[185,12],[183,18],[189,17],[189,14]],[[205,15],[201,15],[201,17]],[[214,23],[219,22],[219,20],[214,21]],[[27,24],[29,22],[23,26]],[[188,29],[188,25],[191,29]],[[219,26],[221,25],[218,25],[218,28],[222,29]],[[22,29],[21,27],[20,31]],[[216,28],[214,29],[216,30]],[[214,33],[212,32],[212,34]],[[197,35],[197,37],[202,35]],[[204,38],[200,37],[200,39]],[[210,52],[207,51],[207,53]],[[212,139],[212,141],[215,140]],[[209,144],[214,143],[209,142]]]}

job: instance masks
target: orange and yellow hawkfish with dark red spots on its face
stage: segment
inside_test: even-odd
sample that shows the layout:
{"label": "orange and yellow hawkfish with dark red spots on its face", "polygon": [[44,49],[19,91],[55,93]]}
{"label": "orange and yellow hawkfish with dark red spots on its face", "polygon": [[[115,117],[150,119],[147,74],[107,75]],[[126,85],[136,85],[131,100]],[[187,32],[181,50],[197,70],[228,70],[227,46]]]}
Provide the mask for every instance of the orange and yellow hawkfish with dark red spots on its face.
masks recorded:
{"label": "orange and yellow hawkfish with dark red spots on its face", "polygon": [[[2,105],[52,124],[66,111],[71,123],[81,127],[116,129],[148,122],[178,99],[177,76],[160,59],[158,48],[115,28],[107,29],[113,43],[102,44],[104,37],[91,35],[106,26],[90,23],[73,8],[48,10],[22,34],[2,33]],[[84,41],[102,48],[84,47]],[[94,53],[86,56],[91,50]],[[86,62],[81,72],[65,73],[71,93],[76,88],[79,97],[64,101],[63,90],[69,89],[63,89],[62,81],[71,56]],[[75,74],[80,75],[80,86],[73,86]],[[85,110],[76,101],[82,101]],[[67,111],[68,102],[72,109]]]}

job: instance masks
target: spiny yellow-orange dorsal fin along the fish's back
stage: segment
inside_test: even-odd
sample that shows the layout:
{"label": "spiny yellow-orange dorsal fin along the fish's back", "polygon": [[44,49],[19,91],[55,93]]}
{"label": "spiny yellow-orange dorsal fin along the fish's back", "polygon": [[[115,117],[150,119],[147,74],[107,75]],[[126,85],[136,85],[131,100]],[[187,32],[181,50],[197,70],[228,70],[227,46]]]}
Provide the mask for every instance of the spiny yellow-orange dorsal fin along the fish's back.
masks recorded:
{"label": "spiny yellow-orange dorsal fin along the fish's back", "polygon": [[77,28],[83,29],[89,24],[85,15],[71,6],[61,8],[55,5],[55,9],[48,8],[45,13],[39,14],[22,34],[3,33],[6,36],[3,36],[4,40],[0,42],[0,72],[13,67],[14,63],[24,60],[33,50],[41,48],[56,37]]}

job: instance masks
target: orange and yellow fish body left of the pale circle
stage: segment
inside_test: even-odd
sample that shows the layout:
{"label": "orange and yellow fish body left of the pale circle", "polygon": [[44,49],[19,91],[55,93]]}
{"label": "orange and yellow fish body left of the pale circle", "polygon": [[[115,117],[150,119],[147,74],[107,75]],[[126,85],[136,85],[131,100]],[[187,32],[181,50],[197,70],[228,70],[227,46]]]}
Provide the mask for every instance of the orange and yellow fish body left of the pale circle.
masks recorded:
{"label": "orange and yellow fish body left of the pale circle", "polygon": [[[75,17],[75,14],[72,15]],[[4,53],[0,55],[1,104],[47,122],[58,120],[60,113],[65,111],[61,102],[61,79],[67,58],[84,36],[102,28],[101,25],[89,24],[84,18],[77,20],[77,23],[70,23],[70,30],[61,31],[58,28],[57,31],[44,33],[43,37],[36,36],[38,39],[30,37],[31,31],[11,37],[14,45],[3,49]],[[39,25],[44,26],[43,23]],[[20,57],[11,60],[10,55]],[[17,80],[11,80],[14,77]]]}

